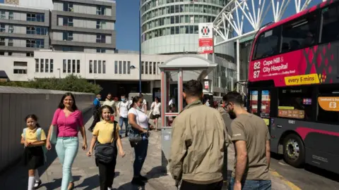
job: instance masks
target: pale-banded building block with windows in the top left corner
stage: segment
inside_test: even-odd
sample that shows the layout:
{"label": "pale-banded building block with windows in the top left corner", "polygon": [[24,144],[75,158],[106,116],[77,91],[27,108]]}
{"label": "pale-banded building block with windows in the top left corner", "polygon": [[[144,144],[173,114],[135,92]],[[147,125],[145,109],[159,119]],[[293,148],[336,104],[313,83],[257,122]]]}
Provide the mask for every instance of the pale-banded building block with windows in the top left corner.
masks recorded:
{"label": "pale-banded building block with windows in the top left corner", "polygon": [[34,56],[49,49],[49,10],[0,4],[0,56]]}

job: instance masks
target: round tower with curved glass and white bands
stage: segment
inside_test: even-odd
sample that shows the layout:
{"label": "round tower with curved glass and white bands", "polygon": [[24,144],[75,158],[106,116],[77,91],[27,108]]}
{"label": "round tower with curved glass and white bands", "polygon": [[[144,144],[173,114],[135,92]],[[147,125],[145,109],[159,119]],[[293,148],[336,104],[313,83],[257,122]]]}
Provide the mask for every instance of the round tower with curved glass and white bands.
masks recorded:
{"label": "round tower with curved glass and white bands", "polygon": [[[212,23],[226,4],[227,0],[141,0],[143,53],[196,53],[198,23]],[[234,47],[227,43],[215,53],[231,61]]]}

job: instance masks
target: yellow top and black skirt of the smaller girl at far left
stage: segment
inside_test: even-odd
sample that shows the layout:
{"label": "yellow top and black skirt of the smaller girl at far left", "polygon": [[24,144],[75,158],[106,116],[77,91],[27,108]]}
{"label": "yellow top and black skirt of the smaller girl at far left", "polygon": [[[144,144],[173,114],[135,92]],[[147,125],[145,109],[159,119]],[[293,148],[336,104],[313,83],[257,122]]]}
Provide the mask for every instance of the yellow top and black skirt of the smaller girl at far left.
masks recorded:
{"label": "yellow top and black skirt of the smaller girl at far left", "polygon": [[[21,134],[21,137],[23,137],[25,141],[28,141],[28,142],[38,141],[37,129],[38,127],[35,127],[35,129],[30,129],[27,127],[25,129],[25,137],[24,137],[24,133]],[[46,134],[44,133],[44,130],[41,129],[39,140],[44,141],[46,139],[47,139]],[[44,165],[45,158],[44,158],[44,151],[42,149],[42,146],[25,147],[23,156],[24,156],[24,163],[28,167],[28,170],[35,170],[38,167],[41,167],[42,165]]]}

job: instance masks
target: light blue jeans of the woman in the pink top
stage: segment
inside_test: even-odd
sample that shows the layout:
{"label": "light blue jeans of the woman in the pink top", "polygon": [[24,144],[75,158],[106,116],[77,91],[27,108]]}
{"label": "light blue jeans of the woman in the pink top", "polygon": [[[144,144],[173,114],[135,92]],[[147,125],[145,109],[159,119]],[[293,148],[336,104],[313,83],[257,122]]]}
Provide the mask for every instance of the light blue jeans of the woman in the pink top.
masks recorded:
{"label": "light blue jeans of the woman in the pink top", "polygon": [[73,182],[72,165],[78,153],[78,137],[58,137],[55,150],[62,164],[61,190],[67,190],[69,182]]}

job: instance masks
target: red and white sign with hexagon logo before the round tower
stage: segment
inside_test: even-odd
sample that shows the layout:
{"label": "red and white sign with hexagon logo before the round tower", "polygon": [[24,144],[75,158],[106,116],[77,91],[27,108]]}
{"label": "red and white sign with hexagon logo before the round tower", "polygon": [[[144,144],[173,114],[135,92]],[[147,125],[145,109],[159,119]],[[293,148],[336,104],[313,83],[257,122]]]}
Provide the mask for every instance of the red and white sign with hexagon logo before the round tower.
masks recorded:
{"label": "red and white sign with hexagon logo before the round tower", "polygon": [[213,53],[213,23],[199,23],[199,53]]}

